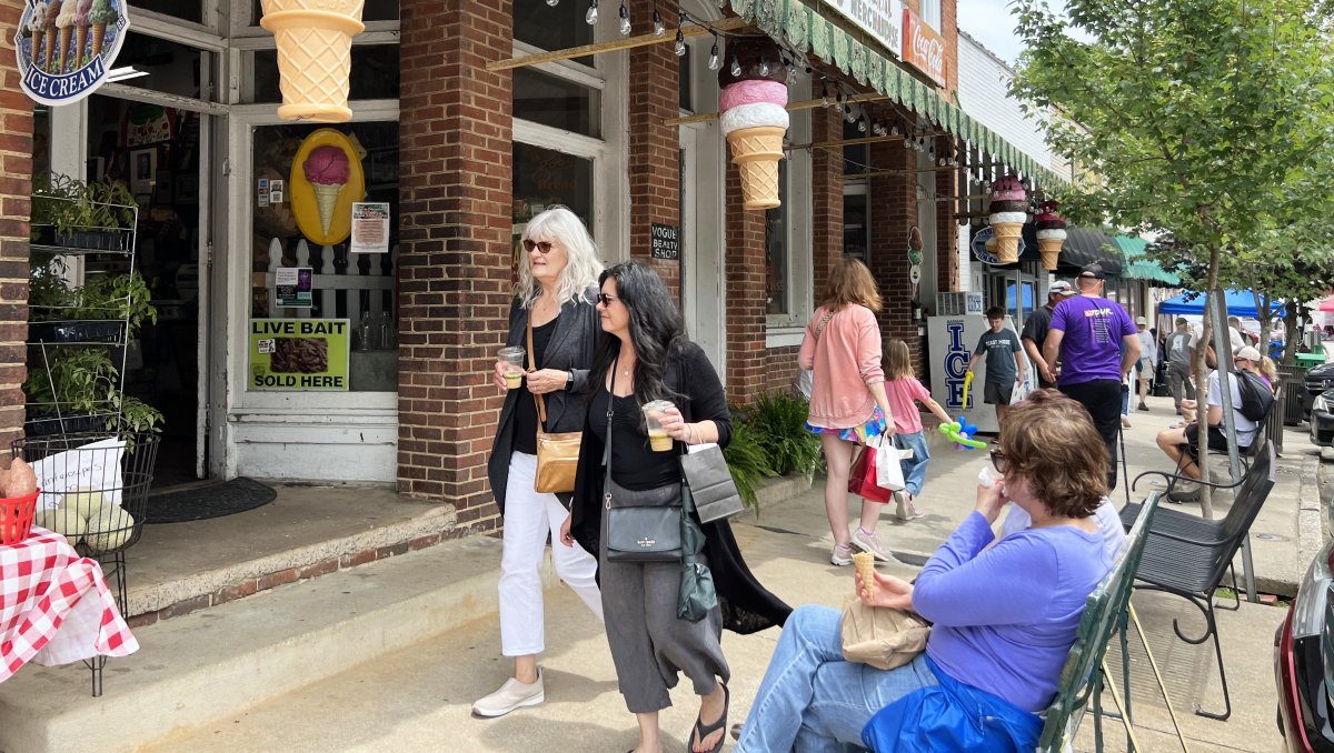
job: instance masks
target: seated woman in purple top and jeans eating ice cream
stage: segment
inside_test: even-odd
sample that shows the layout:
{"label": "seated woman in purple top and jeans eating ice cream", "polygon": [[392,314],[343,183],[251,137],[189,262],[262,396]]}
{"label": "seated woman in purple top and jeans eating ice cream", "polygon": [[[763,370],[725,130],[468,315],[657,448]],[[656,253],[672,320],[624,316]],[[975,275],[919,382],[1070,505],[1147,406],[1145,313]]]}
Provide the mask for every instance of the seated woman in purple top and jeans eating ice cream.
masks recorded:
{"label": "seated woman in purple top and jeans eating ice cream", "polygon": [[[1085,600],[1113,562],[1093,518],[1107,493],[1102,437],[1087,412],[1069,409],[1070,398],[1050,389],[1034,396],[1011,408],[1000,448],[991,450],[1002,481],[978,486],[972,514],[916,581],[876,573],[878,588],[862,596],[868,605],[912,609],[932,621],[926,652],[891,670],[852,664],[843,658],[839,612],[796,609],[736,753],[860,746],[876,712],[938,685],[980,698],[988,718],[1018,718],[1037,744],[1037,712],[1051,704]],[[988,546],[1006,500],[1033,525]],[[900,721],[934,724],[919,716]]]}

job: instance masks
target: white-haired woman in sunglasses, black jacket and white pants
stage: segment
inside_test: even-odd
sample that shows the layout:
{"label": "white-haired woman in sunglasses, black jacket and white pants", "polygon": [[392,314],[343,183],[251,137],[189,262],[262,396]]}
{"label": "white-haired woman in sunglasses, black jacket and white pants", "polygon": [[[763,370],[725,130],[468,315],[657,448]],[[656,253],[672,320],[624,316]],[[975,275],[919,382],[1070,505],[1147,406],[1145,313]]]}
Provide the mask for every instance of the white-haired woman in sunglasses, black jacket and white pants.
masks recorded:
{"label": "white-haired woman in sunglasses, black jacket and white pants", "polygon": [[[559,537],[570,494],[535,489],[538,430],[583,428],[579,389],[588,381],[599,337],[595,285],[602,263],[579,217],[564,207],[547,209],[528,221],[523,248],[506,345],[531,349],[524,364],[535,368],[524,375],[522,386],[507,390],[506,364],[496,361],[492,380],[506,398],[487,460],[491,492],[504,518],[500,652],[514,657],[514,677],[472,705],[472,713],[482,717],[504,716],[546,700],[538,666],[544,648],[542,560],[547,538]],[[546,426],[538,400],[544,402]],[[567,546],[552,546],[551,561],[556,576],[600,620],[602,596],[594,580],[598,562]]]}

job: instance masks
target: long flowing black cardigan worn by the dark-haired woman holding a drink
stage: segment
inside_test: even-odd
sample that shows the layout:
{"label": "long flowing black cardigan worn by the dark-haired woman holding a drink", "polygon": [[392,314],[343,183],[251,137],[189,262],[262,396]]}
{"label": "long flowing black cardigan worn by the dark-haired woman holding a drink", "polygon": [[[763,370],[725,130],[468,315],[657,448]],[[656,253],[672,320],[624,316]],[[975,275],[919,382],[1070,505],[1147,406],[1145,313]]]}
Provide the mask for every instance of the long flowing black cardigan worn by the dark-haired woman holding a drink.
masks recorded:
{"label": "long flowing black cardigan worn by the dark-haired woman holding a drink", "polygon": [[[718,372],[708,357],[694,343],[683,343],[671,349],[664,381],[676,393],[688,400],[679,405],[686,421],[714,421],[718,425],[718,444],[727,446],[732,438],[732,418],[727,410],[727,394],[718,380]],[[602,389],[604,385],[591,385]],[[590,401],[591,402],[591,401]],[[606,422],[607,416],[592,416],[584,410],[587,421],[583,440],[579,445],[579,473],[575,480],[575,496],[570,512],[571,532],[579,545],[594,557],[600,554],[602,538],[602,492],[603,492],[603,442],[592,432],[592,421]],[[684,452],[684,445],[676,442],[675,450]],[[734,633],[750,634],[774,625],[782,625],[792,608],[783,604],[755,580],[746,566],[732,528],[727,521],[708,522],[704,530],[704,556],[714,574],[714,588],[723,610],[723,626]]]}

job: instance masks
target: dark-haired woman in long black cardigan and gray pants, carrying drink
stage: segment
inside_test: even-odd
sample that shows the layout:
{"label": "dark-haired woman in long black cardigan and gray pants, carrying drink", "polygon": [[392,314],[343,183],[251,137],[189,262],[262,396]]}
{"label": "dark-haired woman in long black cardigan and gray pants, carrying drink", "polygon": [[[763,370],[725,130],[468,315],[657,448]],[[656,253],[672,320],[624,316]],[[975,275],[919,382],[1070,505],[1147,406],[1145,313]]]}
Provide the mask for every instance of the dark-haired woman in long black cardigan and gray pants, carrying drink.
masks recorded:
{"label": "dark-haired woman in long black cardigan and gray pants, carrying drink", "polygon": [[[635,750],[662,750],[658,712],[671,705],[668,689],[676,685],[678,672],[684,672],[700,696],[690,750],[712,752],[723,745],[731,676],[722,629],[754,633],[780,625],[790,609],[755,581],[726,521],[703,525],[702,558],[712,570],[719,606],[698,622],[676,616],[679,561],[608,561],[603,504],[680,504],[686,445],[726,446],[732,421],[718,373],[699,345],[686,339],[680,312],[662,279],[643,263],[626,261],[603,272],[599,283],[598,311],[607,336],[590,376],[575,500],[562,541],[567,546],[578,541],[599,557],[607,642],[620,693],[639,724]],[[674,405],[660,413],[674,440],[670,452],[654,452],[644,429],[640,405],[654,400]],[[611,488],[604,489],[608,446]]]}

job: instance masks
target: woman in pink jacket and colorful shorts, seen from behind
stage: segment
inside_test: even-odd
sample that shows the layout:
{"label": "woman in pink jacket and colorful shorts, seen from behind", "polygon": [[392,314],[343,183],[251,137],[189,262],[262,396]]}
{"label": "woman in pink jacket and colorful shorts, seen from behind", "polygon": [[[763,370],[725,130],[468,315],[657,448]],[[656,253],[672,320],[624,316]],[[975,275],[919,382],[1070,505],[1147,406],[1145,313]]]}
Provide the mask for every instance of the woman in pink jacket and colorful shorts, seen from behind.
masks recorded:
{"label": "woman in pink jacket and colorful shorts, seen from behind", "polygon": [[880,293],[871,271],[844,257],[830,275],[824,301],[811,315],[796,356],[800,368],[814,369],[806,428],[819,434],[824,448],[824,512],[834,532],[830,562],[840,566],[852,564],[852,549],[890,561],[875,536],[879,504],[862,501],[856,533],[847,521],[847,477],[856,445],[895,432],[880,365],[878,311]]}

